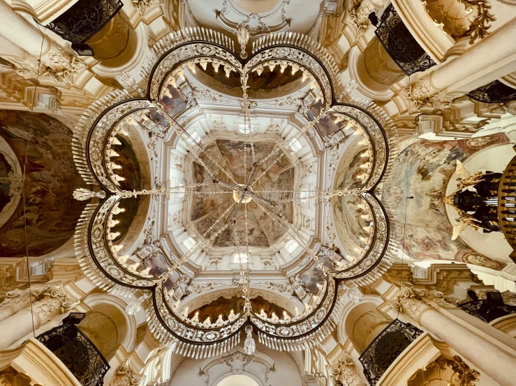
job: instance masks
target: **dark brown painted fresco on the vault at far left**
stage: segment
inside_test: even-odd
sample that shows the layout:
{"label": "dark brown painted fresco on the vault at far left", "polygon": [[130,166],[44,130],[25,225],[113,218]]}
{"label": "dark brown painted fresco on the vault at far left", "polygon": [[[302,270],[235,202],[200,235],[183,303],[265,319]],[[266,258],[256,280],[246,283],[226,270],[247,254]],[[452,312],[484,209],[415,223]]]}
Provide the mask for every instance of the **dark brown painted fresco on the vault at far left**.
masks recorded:
{"label": "dark brown painted fresco on the vault at far left", "polygon": [[[73,236],[85,205],[72,196],[84,185],[73,164],[72,132],[45,114],[0,111],[0,135],[25,170],[24,203],[20,200],[0,228],[0,256],[52,252]],[[2,184],[4,196],[6,190]]]}

